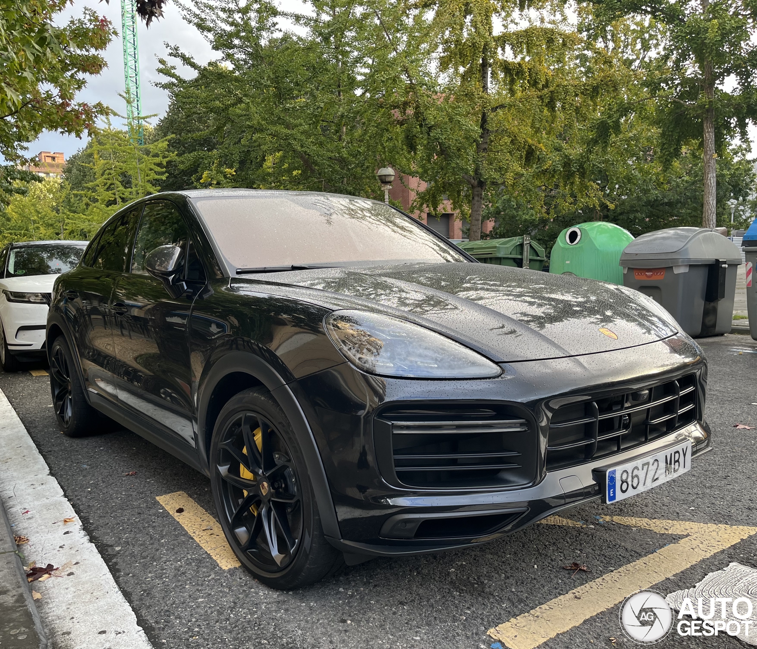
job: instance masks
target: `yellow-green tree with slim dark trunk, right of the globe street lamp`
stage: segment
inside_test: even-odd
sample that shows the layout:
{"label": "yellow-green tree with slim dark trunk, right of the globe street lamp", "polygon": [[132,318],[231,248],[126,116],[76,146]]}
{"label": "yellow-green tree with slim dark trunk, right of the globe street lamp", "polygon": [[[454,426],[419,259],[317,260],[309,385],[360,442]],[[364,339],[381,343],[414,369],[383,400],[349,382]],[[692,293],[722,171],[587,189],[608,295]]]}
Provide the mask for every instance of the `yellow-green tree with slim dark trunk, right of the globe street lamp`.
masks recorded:
{"label": "yellow-green tree with slim dark trunk, right of the globe street lamp", "polygon": [[526,178],[532,201],[547,187],[597,204],[578,145],[597,98],[621,84],[614,59],[566,25],[558,5],[534,3],[531,14],[525,3],[494,0],[437,0],[433,8],[438,85],[413,111],[423,136],[416,166],[430,183],[416,208],[448,199],[469,210],[475,241],[488,194],[513,184],[522,191]]}

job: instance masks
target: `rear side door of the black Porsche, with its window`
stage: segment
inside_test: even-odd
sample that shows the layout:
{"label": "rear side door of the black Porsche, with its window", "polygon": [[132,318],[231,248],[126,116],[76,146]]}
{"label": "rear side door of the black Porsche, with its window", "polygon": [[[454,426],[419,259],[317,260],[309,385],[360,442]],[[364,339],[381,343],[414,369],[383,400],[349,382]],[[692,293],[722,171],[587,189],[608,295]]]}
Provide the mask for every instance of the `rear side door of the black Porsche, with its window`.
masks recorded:
{"label": "rear side door of the black Porsche, with its window", "polygon": [[87,248],[82,262],[61,278],[64,310],[79,352],[87,390],[117,400],[111,293],[126,266],[141,207],[117,216]]}

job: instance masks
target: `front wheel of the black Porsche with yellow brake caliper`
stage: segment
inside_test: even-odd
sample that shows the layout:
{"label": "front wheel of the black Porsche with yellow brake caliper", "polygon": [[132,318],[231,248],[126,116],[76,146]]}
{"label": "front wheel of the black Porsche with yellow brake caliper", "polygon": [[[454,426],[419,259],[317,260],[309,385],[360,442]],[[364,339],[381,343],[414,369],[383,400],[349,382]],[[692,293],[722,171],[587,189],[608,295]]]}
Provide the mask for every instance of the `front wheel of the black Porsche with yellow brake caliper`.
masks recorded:
{"label": "front wheel of the black Porsche with yellow brake caliper", "polygon": [[260,582],[301,588],[344,564],[323,534],[291,424],[264,388],[233,396],[221,410],[210,442],[210,479],[226,539]]}

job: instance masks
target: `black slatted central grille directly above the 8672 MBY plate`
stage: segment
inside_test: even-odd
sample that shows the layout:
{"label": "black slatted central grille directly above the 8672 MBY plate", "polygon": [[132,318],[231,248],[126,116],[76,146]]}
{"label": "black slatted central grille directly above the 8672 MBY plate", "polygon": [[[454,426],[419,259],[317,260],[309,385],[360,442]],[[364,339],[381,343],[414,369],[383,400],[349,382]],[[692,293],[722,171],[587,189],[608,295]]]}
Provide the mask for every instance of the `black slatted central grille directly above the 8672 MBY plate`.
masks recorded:
{"label": "black slatted central grille directly above the 8672 MBY plate", "polygon": [[633,449],[695,420],[695,374],[563,405],[550,420],[547,470]]}

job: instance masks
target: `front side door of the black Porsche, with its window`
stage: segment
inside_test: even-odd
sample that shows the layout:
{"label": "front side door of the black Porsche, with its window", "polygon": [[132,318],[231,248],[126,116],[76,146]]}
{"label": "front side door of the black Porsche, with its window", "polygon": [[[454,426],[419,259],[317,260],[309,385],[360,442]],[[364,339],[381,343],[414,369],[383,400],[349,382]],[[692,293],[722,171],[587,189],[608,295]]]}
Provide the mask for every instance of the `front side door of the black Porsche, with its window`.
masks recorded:
{"label": "front side door of the black Porsche, with its window", "polygon": [[118,398],[173,442],[195,446],[187,322],[192,295],[177,291],[145,270],[145,257],[159,246],[187,250],[188,231],[173,203],[147,203],[132,262],[118,280],[113,306],[118,359]]}

